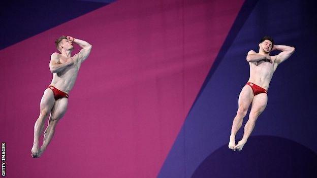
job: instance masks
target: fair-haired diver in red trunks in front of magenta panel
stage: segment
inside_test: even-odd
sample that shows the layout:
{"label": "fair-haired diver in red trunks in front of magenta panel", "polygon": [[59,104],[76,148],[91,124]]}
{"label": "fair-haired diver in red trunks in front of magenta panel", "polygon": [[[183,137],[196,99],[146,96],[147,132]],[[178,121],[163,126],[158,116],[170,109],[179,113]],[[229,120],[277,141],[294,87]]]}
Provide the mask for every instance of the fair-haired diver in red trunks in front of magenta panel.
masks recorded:
{"label": "fair-haired diver in red trunks in front of magenta panel", "polygon": [[[72,57],[73,43],[82,49]],[[44,91],[40,103],[40,116],[34,126],[34,142],[31,149],[33,158],[39,158],[50,143],[56,124],[67,110],[68,94],[72,90],[81,63],[88,57],[91,45],[83,40],[62,36],[55,41],[59,53],[51,55],[49,67],[53,80]],[[44,131],[43,145],[39,148],[39,138],[43,132],[44,122],[49,116],[48,126]]]}

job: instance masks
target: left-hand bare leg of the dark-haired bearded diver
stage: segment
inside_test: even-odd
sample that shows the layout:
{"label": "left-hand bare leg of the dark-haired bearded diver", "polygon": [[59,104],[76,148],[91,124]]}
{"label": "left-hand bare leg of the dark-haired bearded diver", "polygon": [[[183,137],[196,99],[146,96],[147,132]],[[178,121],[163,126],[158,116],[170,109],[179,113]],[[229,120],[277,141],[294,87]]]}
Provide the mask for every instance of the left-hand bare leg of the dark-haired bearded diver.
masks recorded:
{"label": "left-hand bare leg of the dark-haired bearded diver", "polygon": [[[240,127],[242,126],[243,118],[245,117],[247,110],[252,102],[253,99],[253,91],[252,88],[248,85],[245,85],[239,95],[238,99],[238,111],[236,117],[233,119],[232,128],[231,128],[231,135],[230,135],[230,141],[229,141],[229,149],[234,150],[234,147],[236,146],[236,134]],[[234,150],[235,151],[235,150]]]}

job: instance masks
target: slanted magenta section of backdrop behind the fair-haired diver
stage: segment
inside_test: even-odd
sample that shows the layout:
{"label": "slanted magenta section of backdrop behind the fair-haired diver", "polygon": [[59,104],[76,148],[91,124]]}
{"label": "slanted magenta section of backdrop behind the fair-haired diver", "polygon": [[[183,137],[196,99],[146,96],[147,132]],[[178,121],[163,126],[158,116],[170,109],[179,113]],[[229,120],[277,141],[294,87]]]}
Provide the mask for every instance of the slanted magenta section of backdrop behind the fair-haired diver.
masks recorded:
{"label": "slanted magenta section of backdrop behind the fair-haired diver", "polygon": [[[7,176],[155,177],[242,3],[118,1],[1,50]],[[93,48],[50,146],[33,159],[49,57],[62,34]]]}

